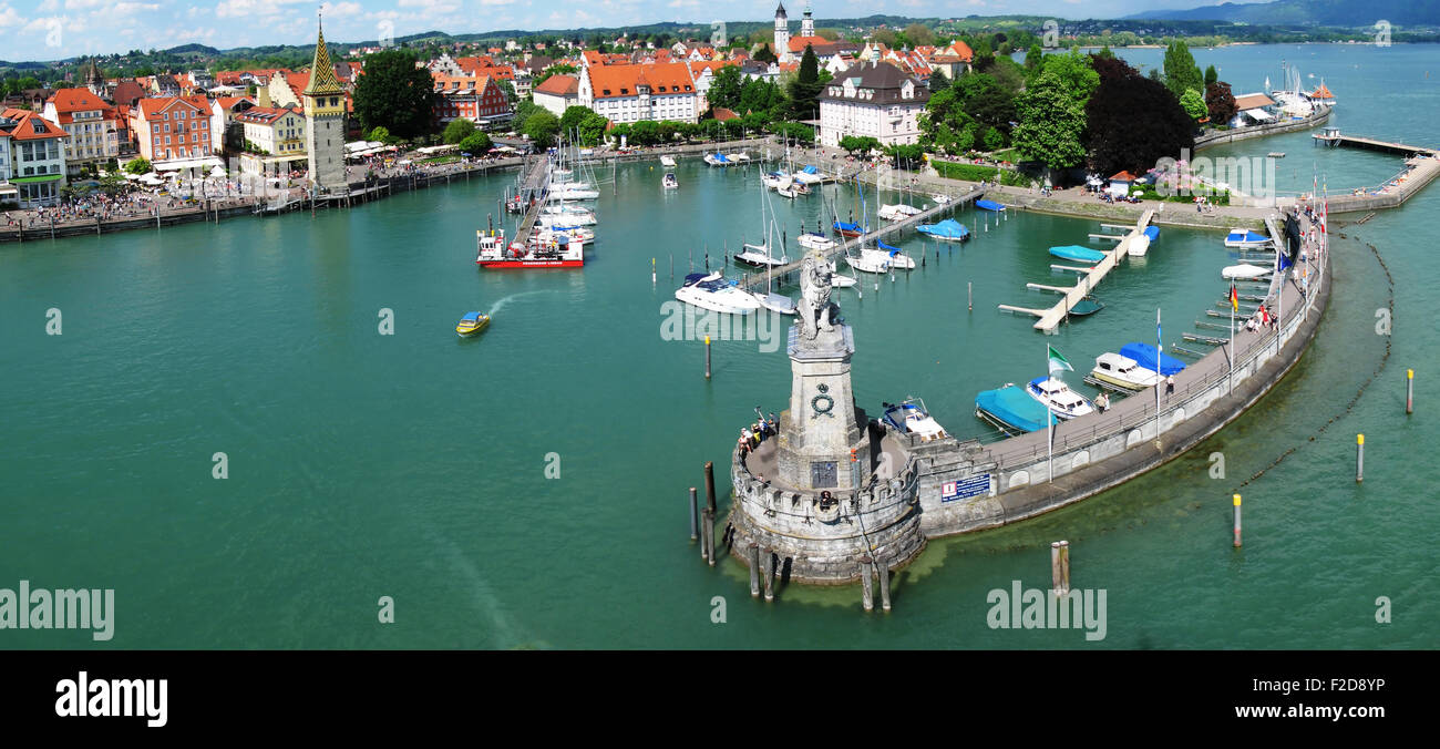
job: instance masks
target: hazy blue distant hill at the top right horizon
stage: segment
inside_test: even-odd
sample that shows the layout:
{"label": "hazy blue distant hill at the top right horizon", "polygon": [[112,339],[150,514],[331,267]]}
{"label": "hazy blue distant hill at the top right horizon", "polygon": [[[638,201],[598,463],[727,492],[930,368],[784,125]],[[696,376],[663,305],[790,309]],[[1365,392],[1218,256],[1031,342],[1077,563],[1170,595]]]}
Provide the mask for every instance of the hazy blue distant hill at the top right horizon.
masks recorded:
{"label": "hazy blue distant hill at the top right horizon", "polygon": [[1440,0],[1274,0],[1273,3],[1221,3],[1189,10],[1146,10],[1130,19],[1227,20],[1273,26],[1374,27],[1440,26]]}

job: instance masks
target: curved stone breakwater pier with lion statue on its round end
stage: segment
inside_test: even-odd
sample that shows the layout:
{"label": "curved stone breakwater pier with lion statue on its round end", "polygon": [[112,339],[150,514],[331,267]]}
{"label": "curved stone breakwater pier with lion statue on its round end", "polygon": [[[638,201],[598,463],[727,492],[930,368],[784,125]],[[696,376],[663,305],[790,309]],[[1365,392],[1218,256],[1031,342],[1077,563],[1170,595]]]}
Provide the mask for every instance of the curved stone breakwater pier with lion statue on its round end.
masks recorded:
{"label": "curved stone breakwater pier with lion statue on its round end", "polygon": [[[1303,222],[1303,217],[1300,217]],[[1276,222],[1267,222],[1277,242]],[[1303,235],[1302,235],[1303,236]],[[922,439],[871,422],[854,405],[854,337],[837,323],[819,254],[802,261],[802,304],[791,330],[789,408],[779,434],[732,452],[733,503],[724,539],[744,565],[806,583],[888,593],[891,569],[927,539],[1034,517],[1119,485],[1171,461],[1237,419],[1300,360],[1331,294],[1329,252],[1309,251],[1296,272],[1270,281],[1273,330],[1236,333],[1234,362],[1217,347],[1159,387],[1060,422],[1045,432],[984,445]],[[760,562],[763,559],[763,563]],[[884,595],[888,599],[887,595]],[[867,596],[867,601],[868,596]]]}

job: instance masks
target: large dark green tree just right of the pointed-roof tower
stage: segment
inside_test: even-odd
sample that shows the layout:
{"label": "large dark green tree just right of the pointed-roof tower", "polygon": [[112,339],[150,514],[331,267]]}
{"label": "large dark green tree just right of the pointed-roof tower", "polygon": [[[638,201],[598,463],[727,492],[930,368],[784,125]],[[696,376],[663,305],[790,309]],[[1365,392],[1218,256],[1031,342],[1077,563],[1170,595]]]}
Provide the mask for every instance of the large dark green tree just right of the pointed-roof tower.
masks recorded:
{"label": "large dark green tree just right of the pointed-roof tower", "polygon": [[423,135],[435,117],[433,88],[429,71],[416,68],[410,53],[376,52],[356,84],[356,117],[363,130],[379,125],[402,138]]}

